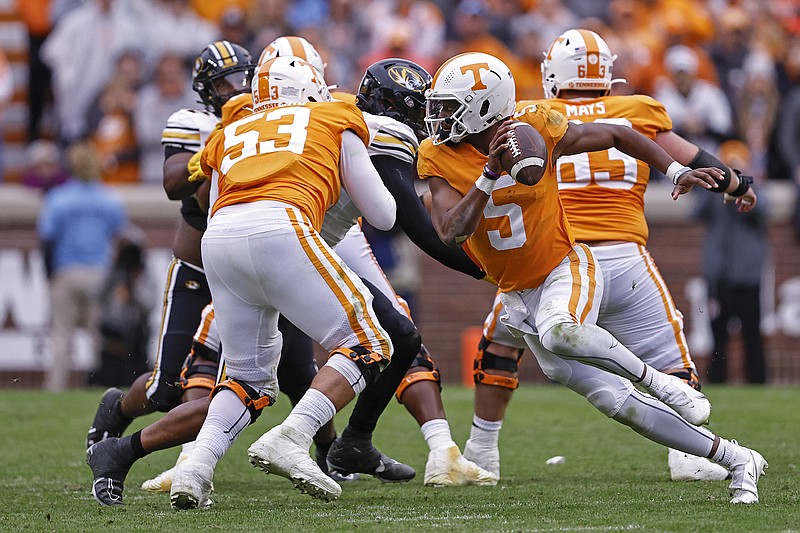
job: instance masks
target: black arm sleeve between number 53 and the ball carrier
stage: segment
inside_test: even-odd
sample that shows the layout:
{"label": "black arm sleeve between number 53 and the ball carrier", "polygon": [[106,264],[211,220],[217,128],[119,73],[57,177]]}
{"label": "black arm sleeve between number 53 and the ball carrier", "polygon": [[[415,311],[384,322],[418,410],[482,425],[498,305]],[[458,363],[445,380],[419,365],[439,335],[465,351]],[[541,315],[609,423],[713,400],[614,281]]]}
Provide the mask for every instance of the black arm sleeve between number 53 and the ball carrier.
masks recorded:
{"label": "black arm sleeve between number 53 and the ball carrier", "polygon": [[414,164],[385,155],[372,156],[372,163],[397,205],[402,206],[397,210],[397,223],[408,238],[446,267],[483,279],[486,273],[475,265],[463,249],[450,248],[437,235],[431,216],[414,189]]}

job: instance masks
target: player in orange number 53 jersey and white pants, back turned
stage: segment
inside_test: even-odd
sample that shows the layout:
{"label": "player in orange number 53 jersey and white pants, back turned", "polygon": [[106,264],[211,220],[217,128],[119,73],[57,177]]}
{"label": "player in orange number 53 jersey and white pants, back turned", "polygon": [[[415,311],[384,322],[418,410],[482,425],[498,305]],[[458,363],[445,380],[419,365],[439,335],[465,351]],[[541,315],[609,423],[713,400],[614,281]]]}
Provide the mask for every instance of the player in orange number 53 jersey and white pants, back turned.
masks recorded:
{"label": "player in orange number 53 jersey and white pants, back turned", "polygon": [[248,455],[313,497],[336,499],[341,487],[309,456],[312,436],[375,382],[392,353],[369,290],[318,233],[342,186],[371,224],[395,222],[361,112],[330,101],[319,71],[291,57],[261,65],[252,96],[253,113],[212,133],[201,158],[211,176],[203,259],[228,379],[215,387],[195,447],[175,468],[170,500],[179,509],[208,498],[219,459],[274,402],[279,314],[331,355]]}

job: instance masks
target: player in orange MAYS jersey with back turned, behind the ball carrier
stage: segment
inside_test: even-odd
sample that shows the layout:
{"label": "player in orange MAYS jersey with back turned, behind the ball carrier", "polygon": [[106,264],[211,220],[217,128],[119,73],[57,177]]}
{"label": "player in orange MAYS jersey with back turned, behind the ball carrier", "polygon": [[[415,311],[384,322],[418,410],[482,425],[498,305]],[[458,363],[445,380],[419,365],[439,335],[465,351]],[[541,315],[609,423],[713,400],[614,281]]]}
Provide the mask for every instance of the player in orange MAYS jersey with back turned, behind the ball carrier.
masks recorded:
{"label": "player in orange MAYS jersey with back turned, behind the ball carrier", "polygon": [[[672,131],[666,109],[648,96],[609,96],[614,58],[589,30],[569,30],[550,46],[542,63],[547,104],[576,123],[620,124],[655,140],[691,168],[725,171],[720,186],[746,212],[756,202],[750,179]],[[519,112],[537,102],[519,102]],[[604,277],[598,325],[645,363],[678,376],[700,390],[683,334],[683,315],[645,245],[648,228],[644,192],[650,167],[616,149],[562,156],[556,161],[559,197],[575,239],[589,245]],[[475,372],[475,414],[464,455],[500,473],[498,436],[506,407],[518,386],[517,365],[525,342],[500,322],[499,296],[484,321]],[[675,480],[721,480],[729,472],[705,458],[669,451]]]}

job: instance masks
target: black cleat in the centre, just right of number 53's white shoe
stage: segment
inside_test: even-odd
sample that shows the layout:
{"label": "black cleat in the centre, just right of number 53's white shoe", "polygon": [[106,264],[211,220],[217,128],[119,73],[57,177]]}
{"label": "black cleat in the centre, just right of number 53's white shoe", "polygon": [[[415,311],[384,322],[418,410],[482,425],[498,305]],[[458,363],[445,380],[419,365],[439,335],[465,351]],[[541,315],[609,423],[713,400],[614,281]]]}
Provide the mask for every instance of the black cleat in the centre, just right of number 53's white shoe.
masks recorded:
{"label": "black cleat in the centre, just right of number 53's white shoe", "polygon": [[416,470],[379,452],[371,442],[355,444],[341,437],[331,444],[327,463],[330,472],[369,474],[384,483],[404,483],[417,475]]}

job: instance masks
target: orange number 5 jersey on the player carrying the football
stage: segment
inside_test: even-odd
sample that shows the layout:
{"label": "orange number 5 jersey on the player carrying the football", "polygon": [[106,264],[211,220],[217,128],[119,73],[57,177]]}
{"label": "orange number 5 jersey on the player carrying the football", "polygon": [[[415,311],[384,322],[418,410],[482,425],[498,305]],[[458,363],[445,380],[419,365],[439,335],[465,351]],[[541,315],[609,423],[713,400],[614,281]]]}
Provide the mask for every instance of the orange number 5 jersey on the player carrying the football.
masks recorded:
{"label": "orange number 5 jersey on the player carrying the football", "polygon": [[[564,116],[540,104],[514,118],[539,130],[551,160],[553,148],[567,131]],[[426,139],[420,145],[417,169],[421,178],[441,177],[466,196],[487,160],[467,141],[434,146]],[[549,165],[532,187],[503,174],[464,250],[505,292],[541,285],[573,244],[554,168]]]}

